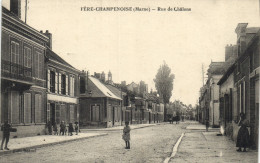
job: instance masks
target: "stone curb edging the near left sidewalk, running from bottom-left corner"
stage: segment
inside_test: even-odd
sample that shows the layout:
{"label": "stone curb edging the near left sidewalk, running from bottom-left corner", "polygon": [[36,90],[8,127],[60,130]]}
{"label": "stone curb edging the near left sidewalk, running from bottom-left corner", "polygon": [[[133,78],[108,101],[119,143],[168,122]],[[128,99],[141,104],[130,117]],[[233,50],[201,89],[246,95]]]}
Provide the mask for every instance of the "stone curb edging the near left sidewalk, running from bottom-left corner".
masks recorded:
{"label": "stone curb edging the near left sidewalk, running from bottom-left corner", "polygon": [[0,156],[5,155],[5,154],[15,153],[15,152],[30,151],[30,149],[32,149],[32,148],[47,147],[47,146],[51,146],[51,145],[55,145],[55,144],[63,144],[63,143],[67,143],[67,142],[72,142],[72,141],[77,141],[77,140],[82,140],[82,139],[88,139],[88,138],[94,138],[94,137],[100,137],[100,136],[106,136],[106,135],[108,135],[108,134],[105,133],[105,134],[93,135],[93,136],[89,136],[89,137],[82,137],[82,138],[78,138],[78,139],[70,139],[70,140],[58,141],[58,142],[53,142],[53,143],[48,143],[48,144],[40,144],[40,145],[34,145],[34,146],[30,146],[30,147],[11,149],[9,151],[1,151]]}

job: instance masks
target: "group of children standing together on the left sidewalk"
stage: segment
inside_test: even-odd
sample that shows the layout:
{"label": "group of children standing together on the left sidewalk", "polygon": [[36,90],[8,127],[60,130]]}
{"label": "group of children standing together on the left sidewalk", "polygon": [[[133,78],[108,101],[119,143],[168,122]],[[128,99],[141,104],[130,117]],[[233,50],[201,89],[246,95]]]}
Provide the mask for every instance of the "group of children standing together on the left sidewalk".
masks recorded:
{"label": "group of children standing together on the left sidewalk", "polygon": [[47,123],[47,128],[48,128],[48,133],[49,135],[70,135],[72,136],[73,132],[76,132],[76,135],[78,135],[79,133],[79,126],[78,126],[78,122],[75,122],[75,126],[73,126],[72,123],[69,123],[69,126],[66,126],[66,123],[64,121],[61,121],[60,123],[60,132],[58,132],[58,125],[56,122],[54,122],[53,124],[51,123],[51,121],[49,121]]}

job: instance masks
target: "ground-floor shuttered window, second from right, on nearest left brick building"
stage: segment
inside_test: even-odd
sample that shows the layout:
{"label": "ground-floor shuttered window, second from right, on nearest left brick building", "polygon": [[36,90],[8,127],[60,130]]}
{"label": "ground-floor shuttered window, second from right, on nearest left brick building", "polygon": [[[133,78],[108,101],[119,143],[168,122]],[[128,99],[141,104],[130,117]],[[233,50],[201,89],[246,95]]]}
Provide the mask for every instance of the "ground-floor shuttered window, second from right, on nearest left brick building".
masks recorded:
{"label": "ground-floor shuttered window, second from right, on nearest left brick building", "polygon": [[24,123],[31,123],[31,93],[24,94]]}

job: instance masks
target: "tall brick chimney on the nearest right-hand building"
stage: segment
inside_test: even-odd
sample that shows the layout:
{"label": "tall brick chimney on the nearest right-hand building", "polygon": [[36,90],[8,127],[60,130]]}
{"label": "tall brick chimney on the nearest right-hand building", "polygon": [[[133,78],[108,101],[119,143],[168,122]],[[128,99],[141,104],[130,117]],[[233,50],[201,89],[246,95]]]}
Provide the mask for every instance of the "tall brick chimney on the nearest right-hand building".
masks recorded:
{"label": "tall brick chimney on the nearest right-hand building", "polygon": [[240,56],[246,49],[246,27],[248,23],[239,23],[236,28],[238,56]]}

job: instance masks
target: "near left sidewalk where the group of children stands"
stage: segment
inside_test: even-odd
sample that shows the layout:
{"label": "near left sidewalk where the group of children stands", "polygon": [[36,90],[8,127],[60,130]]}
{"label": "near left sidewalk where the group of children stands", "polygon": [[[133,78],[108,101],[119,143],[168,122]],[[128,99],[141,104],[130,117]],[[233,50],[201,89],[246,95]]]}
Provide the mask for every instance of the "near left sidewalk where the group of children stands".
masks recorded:
{"label": "near left sidewalk where the group of children stands", "polygon": [[0,150],[0,155],[20,152],[20,151],[35,151],[36,148],[49,146],[74,140],[87,139],[92,137],[104,136],[105,133],[79,133],[73,136],[58,136],[58,135],[41,135],[23,138],[11,138],[8,143],[10,150]]}

